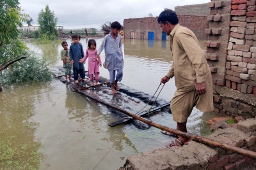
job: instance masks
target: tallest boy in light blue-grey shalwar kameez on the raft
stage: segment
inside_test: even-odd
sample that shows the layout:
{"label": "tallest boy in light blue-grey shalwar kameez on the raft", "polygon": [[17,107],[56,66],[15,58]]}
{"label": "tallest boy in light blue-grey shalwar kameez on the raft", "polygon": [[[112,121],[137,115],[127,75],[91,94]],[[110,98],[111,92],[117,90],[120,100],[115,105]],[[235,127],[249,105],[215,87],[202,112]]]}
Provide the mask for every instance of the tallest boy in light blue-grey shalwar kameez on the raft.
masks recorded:
{"label": "tallest boy in light blue-grey shalwar kameez on the raft", "polygon": [[124,59],[121,37],[118,35],[120,29],[121,24],[119,22],[112,22],[111,32],[104,37],[102,45],[100,45],[99,51],[97,52],[97,58],[99,58],[100,53],[105,49],[106,58],[103,66],[109,71],[112,94],[116,94],[115,88],[116,90],[120,90],[117,81],[120,82],[123,78]]}

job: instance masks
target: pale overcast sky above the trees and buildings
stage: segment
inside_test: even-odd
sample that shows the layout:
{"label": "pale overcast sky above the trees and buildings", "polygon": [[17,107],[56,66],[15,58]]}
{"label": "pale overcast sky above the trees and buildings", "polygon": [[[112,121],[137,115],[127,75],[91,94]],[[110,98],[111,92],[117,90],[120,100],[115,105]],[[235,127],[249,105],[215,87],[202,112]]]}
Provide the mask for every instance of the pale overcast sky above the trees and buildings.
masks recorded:
{"label": "pale overcast sky above the trees and buildings", "polygon": [[[174,10],[175,6],[209,3],[211,0],[20,0],[24,13],[37,23],[38,13],[48,4],[58,18],[57,25],[63,29],[96,28],[106,22],[124,19],[158,16],[164,8]],[[26,25],[26,24],[24,24]],[[33,24],[32,24],[33,25]]]}

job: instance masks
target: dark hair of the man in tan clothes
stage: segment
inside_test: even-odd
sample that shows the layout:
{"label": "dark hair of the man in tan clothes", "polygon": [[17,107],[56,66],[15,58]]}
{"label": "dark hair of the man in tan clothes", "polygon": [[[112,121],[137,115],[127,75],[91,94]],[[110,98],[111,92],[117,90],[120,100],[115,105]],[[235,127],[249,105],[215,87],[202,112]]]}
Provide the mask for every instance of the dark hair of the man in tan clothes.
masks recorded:
{"label": "dark hair of the man in tan clothes", "polygon": [[170,22],[172,25],[176,25],[179,23],[179,19],[175,11],[165,8],[157,18],[157,22],[163,24]]}

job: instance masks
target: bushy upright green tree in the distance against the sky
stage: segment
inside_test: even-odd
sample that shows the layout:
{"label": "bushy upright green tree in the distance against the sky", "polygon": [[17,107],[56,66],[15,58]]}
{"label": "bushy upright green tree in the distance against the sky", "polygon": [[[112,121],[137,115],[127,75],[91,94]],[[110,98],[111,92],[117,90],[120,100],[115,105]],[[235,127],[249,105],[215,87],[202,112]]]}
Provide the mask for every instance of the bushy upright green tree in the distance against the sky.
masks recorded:
{"label": "bushy upright green tree in the distance against the sky", "polygon": [[54,11],[51,11],[49,5],[45,6],[38,14],[37,22],[39,24],[39,36],[46,39],[56,39],[58,31],[56,25],[58,18],[55,17]]}

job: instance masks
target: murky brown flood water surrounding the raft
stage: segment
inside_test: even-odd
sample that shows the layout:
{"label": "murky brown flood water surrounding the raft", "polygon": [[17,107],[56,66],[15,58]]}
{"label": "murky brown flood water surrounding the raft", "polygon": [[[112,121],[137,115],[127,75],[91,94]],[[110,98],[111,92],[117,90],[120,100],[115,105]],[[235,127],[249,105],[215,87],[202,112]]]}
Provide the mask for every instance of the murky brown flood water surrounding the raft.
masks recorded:
{"label": "murky brown flood water surrounding the raft", "polygon": [[[70,39],[66,41],[71,44]],[[84,50],[87,41],[81,39]],[[99,47],[103,38],[96,41]],[[47,57],[51,66],[62,66],[60,44],[27,44],[30,50]],[[153,95],[161,77],[170,69],[169,46],[168,41],[125,39],[121,83]],[[104,60],[104,52],[100,57]],[[87,70],[88,65],[84,66]],[[100,76],[109,77],[103,67]],[[159,97],[170,101],[174,92],[171,79]],[[207,135],[204,120],[215,116],[194,109],[188,131]],[[158,124],[176,127],[171,114],[150,118]],[[154,127],[139,130],[132,124],[108,126],[116,120],[106,106],[72,92],[60,80],[4,87],[0,92],[0,169],[118,169],[127,157],[163,147],[173,140]]]}

